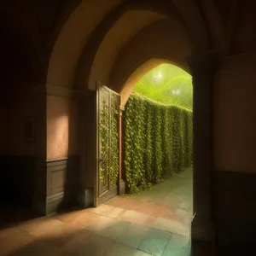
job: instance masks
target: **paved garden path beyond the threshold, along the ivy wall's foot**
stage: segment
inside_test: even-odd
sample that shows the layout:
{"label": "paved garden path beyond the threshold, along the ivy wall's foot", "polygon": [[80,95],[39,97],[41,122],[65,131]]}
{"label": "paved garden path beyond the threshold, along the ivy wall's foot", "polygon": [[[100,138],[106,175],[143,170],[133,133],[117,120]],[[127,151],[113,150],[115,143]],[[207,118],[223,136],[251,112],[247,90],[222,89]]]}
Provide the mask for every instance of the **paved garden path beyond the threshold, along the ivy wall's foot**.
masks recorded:
{"label": "paved garden path beyond the threshold, along the ivy wall's foot", "polygon": [[175,219],[192,218],[192,168],[177,173],[163,183],[154,185],[151,191],[141,195],[119,197],[108,205],[154,217]]}

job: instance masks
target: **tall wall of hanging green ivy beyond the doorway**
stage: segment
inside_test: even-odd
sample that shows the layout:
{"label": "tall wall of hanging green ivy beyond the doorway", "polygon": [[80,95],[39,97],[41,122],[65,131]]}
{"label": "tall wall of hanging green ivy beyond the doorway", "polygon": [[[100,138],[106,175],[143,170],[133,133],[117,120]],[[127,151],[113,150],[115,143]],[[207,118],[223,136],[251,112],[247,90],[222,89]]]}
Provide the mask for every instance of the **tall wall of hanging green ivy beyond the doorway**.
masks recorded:
{"label": "tall wall of hanging green ivy beyond the doorway", "polygon": [[192,111],[133,93],[125,105],[125,181],[131,194],[191,166]]}

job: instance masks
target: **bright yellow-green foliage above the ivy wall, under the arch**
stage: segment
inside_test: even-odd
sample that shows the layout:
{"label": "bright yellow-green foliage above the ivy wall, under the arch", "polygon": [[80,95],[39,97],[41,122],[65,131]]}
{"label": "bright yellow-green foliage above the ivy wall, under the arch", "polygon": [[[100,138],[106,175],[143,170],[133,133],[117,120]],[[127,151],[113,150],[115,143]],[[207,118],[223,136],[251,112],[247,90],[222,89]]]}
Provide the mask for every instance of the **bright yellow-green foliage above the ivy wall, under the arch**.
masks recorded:
{"label": "bright yellow-green foliage above the ivy wall, under the arch", "polygon": [[163,64],[143,76],[134,91],[157,102],[192,109],[192,78],[180,67]]}

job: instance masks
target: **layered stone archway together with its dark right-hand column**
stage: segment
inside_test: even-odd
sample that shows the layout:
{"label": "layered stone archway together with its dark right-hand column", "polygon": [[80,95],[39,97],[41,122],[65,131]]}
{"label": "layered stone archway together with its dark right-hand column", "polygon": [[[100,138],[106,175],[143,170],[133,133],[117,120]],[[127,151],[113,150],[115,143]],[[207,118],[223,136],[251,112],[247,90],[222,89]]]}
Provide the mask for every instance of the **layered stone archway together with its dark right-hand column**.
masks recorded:
{"label": "layered stone archway together with its dark right-hand column", "polygon": [[[130,3],[130,2],[129,2]],[[142,3],[144,3],[142,1]],[[212,209],[211,209],[211,177],[212,177],[212,77],[215,72],[215,56],[208,51],[209,40],[207,38],[206,26],[203,22],[198,7],[194,3],[186,1],[174,3],[168,8],[169,14],[161,13],[158,6],[163,9],[164,1],[149,4],[123,3],[119,6],[117,1],[111,1],[104,6],[96,15],[91,1],[81,3],[79,7],[67,20],[56,41],[50,61],[47,83],[50,86],[61,86],[79,90],[91,88],[91,81],[95,79],[105,79],[103,84],[110,86],[113,90],[120,92],[123,79],[128,79],[137,67],[140,67],[145,60],[151,58],[172,60],[183,68],[189,68],[194,79],[194,119],[195,119],[195,222],[193,223],[192,236],[195,239],[212,239]],[[86,5],[89,4],[89,5]],[[127,4],[127,5],[126,5]],[[86,6],[85,6],[86,5]],[[86,31],[83,26],[88,8],[94,14],[93,21],[88,25]],[[98,8],[98,6],[97,6]],[[167,7],[166,7],[167,8]],[[113,9],[112,11],[110,9]],[[139,9],[139,10],[137,10]],[[119,45],[114,53],[111,68],[107,73],[101,75],[104,65],[108,65],[108,52],[106,45],[113,42],[114,38],[122,33],[118,27],[123,27],[132,15],[143,15],[145,20],[137,15],[137,21],[129,27],[125,40]],[[128,15],[128,16],[126,16]],[[126,17],[126,18],[125,18]],[[140,21],[141,20],[141,21]],[[195,22],[191,22],[191,20]],[[85,22],[89,22],[86,20]],[[123,25],[122,25],[122,22]],[[86,24],[86,23],[84,23]],[[104,25],[105,24],[105,25]],[[121,25],[121,26],[120,26]],[[160,26],[164,29],[158,29]],[[114,32],[114,30],[116,31]],[[173,30],[175,29],[175,30]],[[168,40],[152,40],[143,50],[143,38],[150,38],[150,32],[166,33]],[[177,32],[177,40],[171,40],[172,32]],[[113,33],[112,33],[113,32]],[[165,39],[166,39],[165,38]],[[140,42],[138,44],[138,42]],[[172,42],[172,44],[167,44]],[[175,44],[173,43],[175,42]],[[154,44],[153,44],[154,43]],[[162,47],[165,44],[165,47]],[[136,47],[137,45],[137,47]],[[178,51],[174,51],[175,46],[179,46]],[[172,48],[173,46],[173,48]],[[155,47],[155,49],[154,49]],[[112,48],[112,49],[113,49]],[[112,50],[111,49],[111,50]],[[131,49],[134,54],[131,55]],[[124,65],[124,63],[129,65]],[[101,63],[104,63],[101,67]],[[94,67],[91,70],[91,67]],[[114,72],[115,71],[115,72]],[[116,74],[119,74],[116,76]],[[82,107],[80,107],[82,108]],[[88,108],[88,107],[87,107]],[[86,194],[86,193],[85,193]]]}

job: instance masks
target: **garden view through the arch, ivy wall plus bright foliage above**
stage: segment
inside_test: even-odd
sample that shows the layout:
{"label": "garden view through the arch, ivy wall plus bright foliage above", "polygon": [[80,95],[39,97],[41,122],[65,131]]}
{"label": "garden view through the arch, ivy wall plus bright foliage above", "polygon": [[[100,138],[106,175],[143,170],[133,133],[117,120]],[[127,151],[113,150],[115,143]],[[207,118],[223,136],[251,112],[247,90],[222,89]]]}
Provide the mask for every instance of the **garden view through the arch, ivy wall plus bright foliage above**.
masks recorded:
{"label": "garden view through the arch, ivy wall plus bright foliage above", "polygon": [[162,64],[134,87],[124,111],[124,171],[131,194],[182,172],[193,158],[189,73]]}

